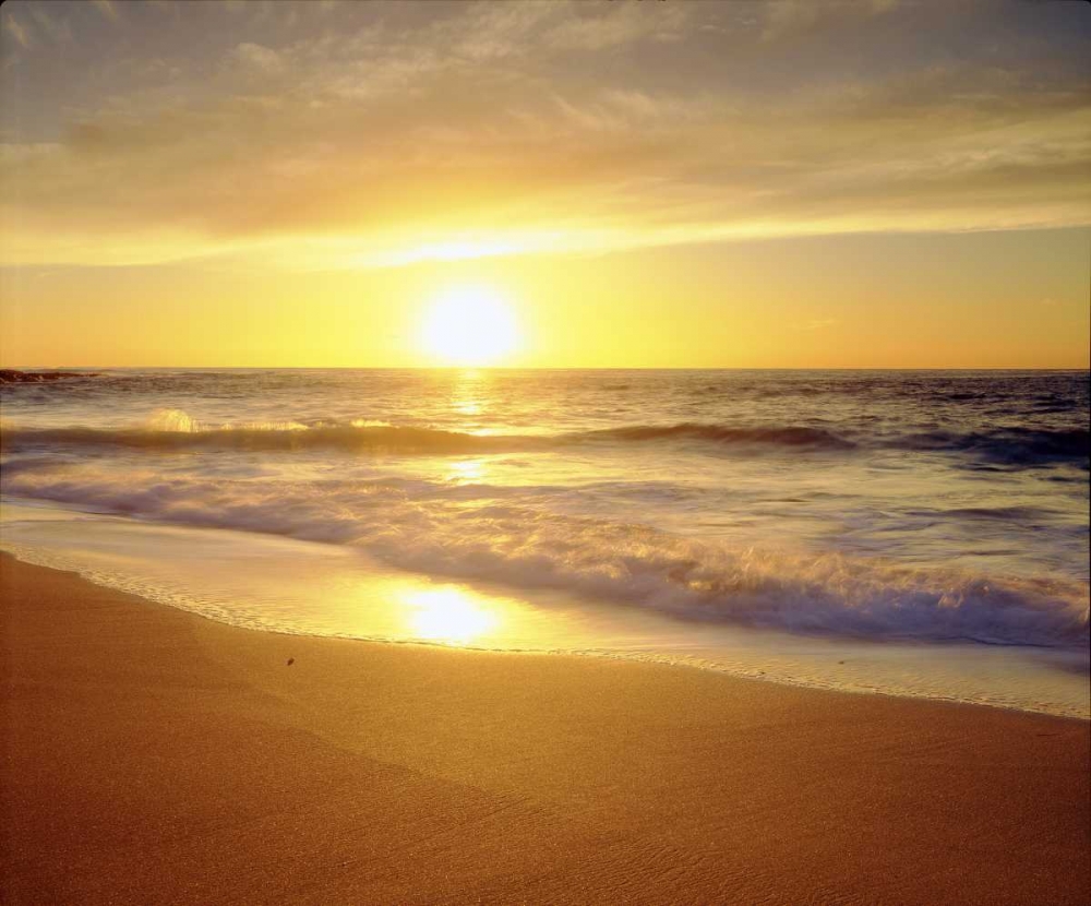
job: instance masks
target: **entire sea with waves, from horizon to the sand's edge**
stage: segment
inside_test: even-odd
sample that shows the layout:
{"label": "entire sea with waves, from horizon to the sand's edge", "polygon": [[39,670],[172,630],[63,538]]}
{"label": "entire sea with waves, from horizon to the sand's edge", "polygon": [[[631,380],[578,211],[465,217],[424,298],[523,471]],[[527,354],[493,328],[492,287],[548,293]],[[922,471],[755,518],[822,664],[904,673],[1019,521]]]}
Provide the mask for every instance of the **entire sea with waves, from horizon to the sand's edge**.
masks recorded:
{"label": "entire sea with waves, from horizon to the sand's edge", "polygon": [[1089,716],[1087,371],[110,369],[0,547],[279,632]]}

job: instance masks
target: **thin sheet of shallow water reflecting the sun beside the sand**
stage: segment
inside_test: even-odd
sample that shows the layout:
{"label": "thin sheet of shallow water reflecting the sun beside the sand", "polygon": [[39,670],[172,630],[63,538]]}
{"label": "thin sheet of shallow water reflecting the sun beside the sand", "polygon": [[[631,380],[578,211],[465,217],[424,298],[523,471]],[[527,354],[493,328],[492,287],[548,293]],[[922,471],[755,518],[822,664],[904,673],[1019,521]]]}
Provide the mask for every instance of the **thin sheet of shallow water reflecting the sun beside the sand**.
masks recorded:
{"label": "thin sheet of shallow water reflecting the sun beside the sand", "polygon": [[451,582],[359,550],[7,501],[0,547],[249,629],[656,660],[851,692],[1091,716],[1086,653],[875,642],[680,620],[552,589]]}

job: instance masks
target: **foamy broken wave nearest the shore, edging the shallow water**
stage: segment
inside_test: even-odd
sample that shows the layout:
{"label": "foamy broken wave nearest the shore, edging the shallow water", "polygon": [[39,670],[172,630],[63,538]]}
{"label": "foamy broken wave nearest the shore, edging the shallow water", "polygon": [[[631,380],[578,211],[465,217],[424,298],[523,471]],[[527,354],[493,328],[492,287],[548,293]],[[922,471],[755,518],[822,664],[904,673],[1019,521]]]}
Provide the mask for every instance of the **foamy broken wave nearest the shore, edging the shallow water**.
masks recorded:
{"label": "foamy broken wave nearest the shore, edging the shallow water", "polygon": [[686,620],[876,639],[1080,646],[1084,583],[865,557],[792,557],[656,528],[452,499],[428,481],[142,474],[94,466],[5,470],[5,493],[161,522],[352,545],[432,575],[553,587]]}

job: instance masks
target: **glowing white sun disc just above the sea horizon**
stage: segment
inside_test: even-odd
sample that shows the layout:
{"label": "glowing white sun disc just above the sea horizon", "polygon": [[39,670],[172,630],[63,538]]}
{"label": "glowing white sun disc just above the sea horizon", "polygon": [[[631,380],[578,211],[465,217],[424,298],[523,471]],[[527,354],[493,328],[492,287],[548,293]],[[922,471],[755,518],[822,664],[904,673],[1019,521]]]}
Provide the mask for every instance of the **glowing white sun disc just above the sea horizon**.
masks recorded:
{"label": "glowing white sun disc just above the sea horizon", "polygon": [[494,365],[519,345],[515,312],[499,294],[458,287],[439,296],[424,315],[421,344],[445,365]]}

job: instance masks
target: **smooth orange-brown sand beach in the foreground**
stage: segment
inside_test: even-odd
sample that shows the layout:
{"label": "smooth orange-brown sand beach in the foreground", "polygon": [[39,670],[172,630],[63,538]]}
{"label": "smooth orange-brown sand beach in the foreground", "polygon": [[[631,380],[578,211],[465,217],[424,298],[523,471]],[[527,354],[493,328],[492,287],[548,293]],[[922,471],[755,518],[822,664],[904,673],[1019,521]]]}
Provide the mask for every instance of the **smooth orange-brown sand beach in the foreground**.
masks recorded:
{"label": "smooth orange-brown sand beach in the foreground", "polygon": [[7,557],[2,601],[5,903],[1091,892],[1083,722],[251,632]]}

